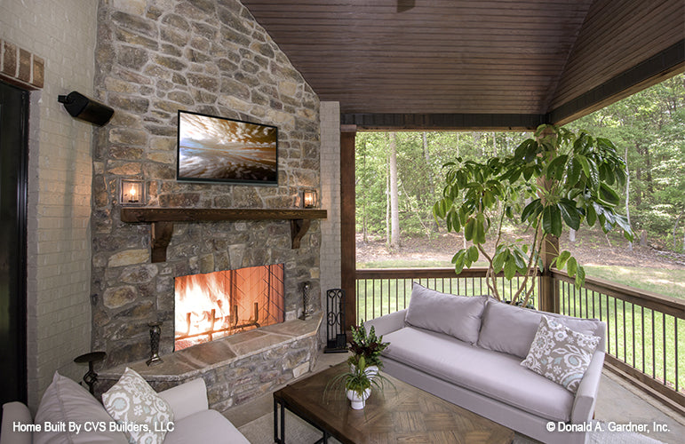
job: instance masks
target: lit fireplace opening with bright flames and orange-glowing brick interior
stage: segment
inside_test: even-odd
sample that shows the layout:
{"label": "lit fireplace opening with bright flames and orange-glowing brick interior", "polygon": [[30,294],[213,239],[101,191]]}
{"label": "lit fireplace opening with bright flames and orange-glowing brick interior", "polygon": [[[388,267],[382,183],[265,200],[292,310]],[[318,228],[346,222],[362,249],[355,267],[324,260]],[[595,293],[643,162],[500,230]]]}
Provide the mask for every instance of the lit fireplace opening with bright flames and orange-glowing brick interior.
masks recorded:
{"label": "lit fireplace opening with bright flames and orange-glowing brick interior", "polygon": [[175,350],[284,321],[283,264],[175,279]]}

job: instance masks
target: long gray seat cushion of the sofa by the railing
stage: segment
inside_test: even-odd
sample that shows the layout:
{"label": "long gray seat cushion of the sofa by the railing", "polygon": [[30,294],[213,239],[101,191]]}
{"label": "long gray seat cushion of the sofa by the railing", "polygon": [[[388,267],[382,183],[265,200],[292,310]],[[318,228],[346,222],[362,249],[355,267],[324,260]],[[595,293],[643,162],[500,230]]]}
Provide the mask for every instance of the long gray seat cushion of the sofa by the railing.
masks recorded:
{"label": "long gray seat cushion of the sofa by the railing", "polygon": [[523,368],[521,360],[514,356],[412,327],[388,333],[384,338],[390,342],[383,353],[387,358],[547,420],[570,420],[573,395]]}

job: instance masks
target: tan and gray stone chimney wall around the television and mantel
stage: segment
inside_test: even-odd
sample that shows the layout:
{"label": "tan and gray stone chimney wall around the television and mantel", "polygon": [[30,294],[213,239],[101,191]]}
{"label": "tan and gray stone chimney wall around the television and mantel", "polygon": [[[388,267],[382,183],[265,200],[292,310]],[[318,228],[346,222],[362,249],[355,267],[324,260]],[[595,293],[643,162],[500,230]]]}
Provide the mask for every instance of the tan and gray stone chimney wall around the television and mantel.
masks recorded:
{"label": "tan and gray stone chimney wall around the television and mantel", "polygon": [[[159,320],[171,353],[183,274],[284,263],[286,319],[296,317],[302,283],[320,290],[318,222],[299,250],[288,221],[177,223],[166,262],[152,264],[150,226],[121,222],[117,187],[144,179],[150,207],[296,207],[319,187],[315,93],[235,0],[102,0],[98,24],[95,90],[115,116],[93,151],[93,349],[108,366],[146,358],[147,322]],[[278,186],[177,182],[178,109],[277,126]]]}

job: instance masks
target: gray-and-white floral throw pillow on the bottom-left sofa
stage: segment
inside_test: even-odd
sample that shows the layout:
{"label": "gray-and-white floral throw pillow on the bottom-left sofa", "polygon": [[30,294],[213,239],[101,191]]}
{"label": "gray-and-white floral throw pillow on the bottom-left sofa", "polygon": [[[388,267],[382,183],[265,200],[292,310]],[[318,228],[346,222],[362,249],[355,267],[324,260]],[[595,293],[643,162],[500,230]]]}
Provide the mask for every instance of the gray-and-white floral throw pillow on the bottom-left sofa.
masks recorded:
{"label": "gray-and-white floral throw pillow on the bottom-left sofa", "polygon": [[173,422],[169,403],[129,368],[112,388],[102,393],[102,403],[121,424],[131,444],[162,444],[167,424]]}

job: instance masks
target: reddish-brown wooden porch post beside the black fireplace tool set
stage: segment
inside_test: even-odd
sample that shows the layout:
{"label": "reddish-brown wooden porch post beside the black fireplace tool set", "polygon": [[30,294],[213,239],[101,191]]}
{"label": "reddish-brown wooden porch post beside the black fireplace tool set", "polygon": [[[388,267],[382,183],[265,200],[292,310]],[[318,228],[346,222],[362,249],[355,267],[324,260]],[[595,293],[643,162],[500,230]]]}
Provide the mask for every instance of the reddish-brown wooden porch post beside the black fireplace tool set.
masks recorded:
{"label": "reddish-brown wooden porch post beside the black fireplace tool set", "polygon": [[340,126],[340,286],[345,290],[345,331],[357,324],[354,139],[356,125]]}

